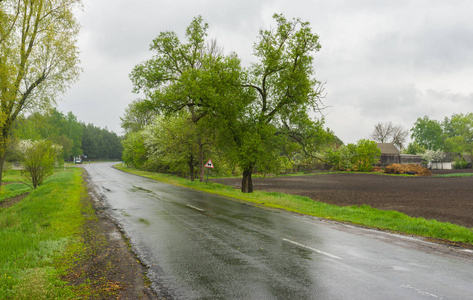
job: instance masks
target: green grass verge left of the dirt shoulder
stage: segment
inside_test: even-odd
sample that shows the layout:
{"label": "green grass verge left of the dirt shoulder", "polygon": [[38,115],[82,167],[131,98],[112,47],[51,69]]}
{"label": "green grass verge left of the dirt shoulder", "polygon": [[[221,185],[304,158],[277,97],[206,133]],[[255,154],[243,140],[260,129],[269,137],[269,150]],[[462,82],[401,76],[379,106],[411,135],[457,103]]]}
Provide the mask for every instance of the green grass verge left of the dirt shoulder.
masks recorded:
{"label": "green grass verge left of the dirt shoulder", "polygon": [[75,299],[60,279],[81,253],[80,169],[60,171],[21,202],[0,209],[0,299]]}

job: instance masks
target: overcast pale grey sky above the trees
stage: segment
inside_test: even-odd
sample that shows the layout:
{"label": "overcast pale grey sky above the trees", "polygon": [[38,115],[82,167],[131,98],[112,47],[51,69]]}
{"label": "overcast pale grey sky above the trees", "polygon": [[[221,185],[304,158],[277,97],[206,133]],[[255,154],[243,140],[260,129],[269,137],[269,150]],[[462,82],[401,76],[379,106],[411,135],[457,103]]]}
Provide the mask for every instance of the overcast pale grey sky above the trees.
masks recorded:
{"label": "overcast pale grey sky above the trees", "polygon": [[283,13],[320,36],[315,70],[326,82],[326,126],[356,142],[378,122],[410,129],[424,115],[473,112],[472,12],[468,0],[84,0],[84,72],[59,109],[122,134],[120,116],[138,98],[128,75],[151,57],[160,32],[183,37],[202,15],[209,38],[247,65],[259,30]]}

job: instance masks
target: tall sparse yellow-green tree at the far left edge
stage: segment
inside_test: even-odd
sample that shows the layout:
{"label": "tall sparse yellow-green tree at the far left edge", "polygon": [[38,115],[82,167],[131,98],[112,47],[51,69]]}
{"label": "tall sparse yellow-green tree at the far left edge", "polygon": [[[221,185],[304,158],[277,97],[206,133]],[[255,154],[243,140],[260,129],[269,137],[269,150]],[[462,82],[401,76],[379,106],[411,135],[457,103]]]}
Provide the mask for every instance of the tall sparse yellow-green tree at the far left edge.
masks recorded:
{"label": "tall sparse yellow-green tree at the far left edge", "polygon": [[80,3],[0,1],[0,173],[15,119],[53,104],[78,78],[79,25],[72,11]]}

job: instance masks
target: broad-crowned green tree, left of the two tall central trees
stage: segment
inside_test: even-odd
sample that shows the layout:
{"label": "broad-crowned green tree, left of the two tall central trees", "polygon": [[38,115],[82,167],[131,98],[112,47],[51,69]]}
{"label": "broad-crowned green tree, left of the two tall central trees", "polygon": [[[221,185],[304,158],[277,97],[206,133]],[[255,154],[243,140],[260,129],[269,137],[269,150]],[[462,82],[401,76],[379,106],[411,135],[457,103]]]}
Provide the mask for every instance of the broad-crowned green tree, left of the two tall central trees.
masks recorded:
{"label": "broad-crowned green tree, left of the two tall central trees", "polygon": [[[202,17],[196,17],[186,30],[185,42],[174,32],[160,33],[150,46],[153,58],[137,65],[130,75],[134,91],[143,92],[156,112],[173,115],[184,111],[195,127],[212,124],[201,121],[216,119],[216,112],[235,105],[235,98],[229,95],[241,87],[239,59],[223,55],[215,41],[206,41],[207,29]],[[198,135],[195,143],[203,181],[204,137]]]}

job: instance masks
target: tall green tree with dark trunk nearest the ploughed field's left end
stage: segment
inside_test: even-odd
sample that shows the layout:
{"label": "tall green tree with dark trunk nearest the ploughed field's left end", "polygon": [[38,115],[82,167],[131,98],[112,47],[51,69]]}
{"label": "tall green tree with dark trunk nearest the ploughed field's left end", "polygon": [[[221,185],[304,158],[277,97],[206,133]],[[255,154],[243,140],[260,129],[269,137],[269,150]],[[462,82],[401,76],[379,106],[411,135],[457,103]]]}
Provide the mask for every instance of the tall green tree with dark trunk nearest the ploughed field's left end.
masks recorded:
{"label": "tall green tree with dark trunk nearest the ploughed field's left end", "polygon": [[[314,78],[313,54],[319,51],[319,37],[310,24],[300,19],[287,20],[275,14],[276,27],[261,30],[254,45],[254,63],[243,85],[252,90],[253,101],[241,114],[240,132],[234,135],[234,146],[243,169],[242,191],[251,193],[251,175],[271,170],[278,155],[276,138],[284,127],[287,132],[310,122],[309,113],[320,105],[322,85]],[[315,124],[314,124],[315,126]]]}

